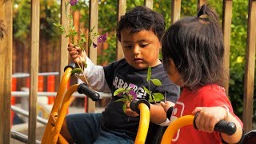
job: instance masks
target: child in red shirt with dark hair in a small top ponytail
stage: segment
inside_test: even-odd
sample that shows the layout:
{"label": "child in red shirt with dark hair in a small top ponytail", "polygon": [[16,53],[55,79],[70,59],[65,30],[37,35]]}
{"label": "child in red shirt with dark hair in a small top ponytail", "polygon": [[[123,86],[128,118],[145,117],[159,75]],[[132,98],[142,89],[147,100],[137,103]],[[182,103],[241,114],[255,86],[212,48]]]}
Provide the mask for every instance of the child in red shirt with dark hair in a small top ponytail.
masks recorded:
{"label": "child in red shirt with dark hair in a small top ponytail", "polygon": [[[178,102],[161,102],[170,122],[199,112],[194,126],[184,126],[172,143],[236,143],[242,138],[242,122],[234,114],[223,81],[224,46],[218,14],[202,6],[195,17],[182,18],[162,38],[162,59],[172,82],[183,88]],[[171,110],[171,109],[170,109]],[[168,115],[168,114],[167,114]],[[220,120],[234,122],[233,135],[214,131]]]}

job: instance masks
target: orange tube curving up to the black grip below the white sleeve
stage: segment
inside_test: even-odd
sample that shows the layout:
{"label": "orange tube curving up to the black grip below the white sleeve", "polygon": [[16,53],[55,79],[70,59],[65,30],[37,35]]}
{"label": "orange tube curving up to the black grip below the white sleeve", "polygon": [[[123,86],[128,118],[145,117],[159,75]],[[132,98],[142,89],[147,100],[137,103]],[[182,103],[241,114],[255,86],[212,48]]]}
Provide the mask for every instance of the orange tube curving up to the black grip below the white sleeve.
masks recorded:
{"label": "orange tube curving up to the black grip below the white sleeve", "polygon": [[79,84],[74,84],[73,86],[70,86],[70,88],[66,91],[65,97],[62,102],[62,107],[58,113],[57,122],[54,127],[54,138],[53,138],[54,142],[53,143],[57,143],[57,141],[58,141],[58,136],[62,129],[62,124],[63,124],[64,118],[66,116],[66,110],[70,106],[70,97],[76,90],[78,90],[78,86],[79,86]]}

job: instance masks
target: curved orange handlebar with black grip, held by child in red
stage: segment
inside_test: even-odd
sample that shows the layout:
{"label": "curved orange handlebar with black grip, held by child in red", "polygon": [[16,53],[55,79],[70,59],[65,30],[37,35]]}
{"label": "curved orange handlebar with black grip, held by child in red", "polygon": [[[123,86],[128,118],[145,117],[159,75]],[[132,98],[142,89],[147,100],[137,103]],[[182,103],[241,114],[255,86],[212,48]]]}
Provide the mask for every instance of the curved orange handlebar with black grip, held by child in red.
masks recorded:
{"label": "curved orange handlebar with black grip, held by child in red", "polygon": [[[194,119],[194,115],[186,115],[174,120],[174,122],[171,122],[162,136],[161,144],[170,144],[174,137],[174,134],[176,134],[178,129],[182,128],[183,126],[194,125]],[[230,135],[234,134],[236,129],[237,128],[234,122],[226,122],[224,120],[219,121],[214,126],[214,130]]]}

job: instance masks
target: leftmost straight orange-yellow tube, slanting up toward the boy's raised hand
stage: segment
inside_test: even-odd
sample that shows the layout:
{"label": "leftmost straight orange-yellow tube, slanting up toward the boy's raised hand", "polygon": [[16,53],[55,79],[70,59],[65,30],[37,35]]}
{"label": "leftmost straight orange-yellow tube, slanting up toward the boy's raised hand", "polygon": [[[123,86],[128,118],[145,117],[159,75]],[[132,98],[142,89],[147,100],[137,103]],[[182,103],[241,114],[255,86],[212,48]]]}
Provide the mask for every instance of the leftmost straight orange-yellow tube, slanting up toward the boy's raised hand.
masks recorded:
{"label": "leftmost straight orange-yellow tube, slanting up toward the boy's raised hand", "polygon": [[62,99],[63,99],[63,95],[66,91],[67,82],[70,80],[71,70],[72,70],[72,68],[68,67],[62,76],[62,80],[60,82],[56,98],[54,100],[54,106],[50,112],[50,118],[48,118],[46,129],[45,129],[45,132],[42,137],[42,144],[48,144],[49,142],[52,141],[53,134],[51,133],[51,129],[54,126],[52,126],[51,124],[54,121],[54,119],[53,119],[53,117],[51,117],[51,115],[58,114],[58,109],[60,108],[60,105],[61,105]]}

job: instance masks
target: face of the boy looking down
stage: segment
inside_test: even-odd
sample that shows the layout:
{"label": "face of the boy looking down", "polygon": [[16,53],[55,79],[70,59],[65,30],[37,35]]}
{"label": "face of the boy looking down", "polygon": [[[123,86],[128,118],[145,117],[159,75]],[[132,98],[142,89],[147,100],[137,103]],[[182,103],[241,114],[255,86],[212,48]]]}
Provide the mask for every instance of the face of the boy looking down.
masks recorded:
{"label": "face of the boy looking down", "polygon": [[161,63],[158,59],[161,43],[151,30],[130,33],[130,29],[123,29],[121,44],[126,62],[134,69],[142,70]]}

